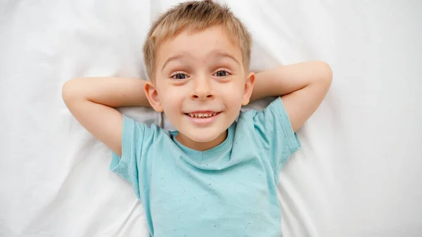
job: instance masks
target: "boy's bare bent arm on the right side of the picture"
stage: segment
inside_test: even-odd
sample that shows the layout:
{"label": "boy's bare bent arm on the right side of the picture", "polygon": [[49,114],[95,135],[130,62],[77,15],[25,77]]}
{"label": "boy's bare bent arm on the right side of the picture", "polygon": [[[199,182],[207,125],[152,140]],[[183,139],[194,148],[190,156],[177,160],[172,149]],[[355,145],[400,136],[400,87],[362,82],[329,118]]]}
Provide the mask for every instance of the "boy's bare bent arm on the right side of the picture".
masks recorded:
{"label": "boy's bare bent arm on the right side of the picture", "polygon": [[312,61],[257,73],[251,101],[281,96],[296,132],[311,117],[327,94],[333,78],[327,63]]}

